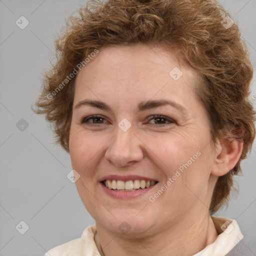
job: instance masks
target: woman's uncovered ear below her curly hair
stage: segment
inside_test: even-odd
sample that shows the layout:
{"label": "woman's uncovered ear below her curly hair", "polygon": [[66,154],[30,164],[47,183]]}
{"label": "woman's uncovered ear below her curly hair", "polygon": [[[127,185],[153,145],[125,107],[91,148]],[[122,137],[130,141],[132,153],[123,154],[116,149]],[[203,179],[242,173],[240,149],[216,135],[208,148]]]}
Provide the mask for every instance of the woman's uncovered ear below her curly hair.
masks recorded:
{"label": "woman's uncovered ear below her curly hair", "polygon": [[231,170],[239,161],[242,148],[242,139],[225,139],[221,142],[217,140],[214,164],[211,170],[211,174],[215,176],[222,176]]}

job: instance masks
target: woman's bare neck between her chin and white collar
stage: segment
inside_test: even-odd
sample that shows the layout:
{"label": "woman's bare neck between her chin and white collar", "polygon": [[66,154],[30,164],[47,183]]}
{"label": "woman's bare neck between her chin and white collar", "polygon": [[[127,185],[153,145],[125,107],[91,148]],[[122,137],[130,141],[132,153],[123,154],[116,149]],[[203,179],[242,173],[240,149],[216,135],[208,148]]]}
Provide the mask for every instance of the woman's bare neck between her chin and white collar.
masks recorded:
{"label": "woman's bare neck between her chin and white collar", "polygon": [[[185,220],[184,220],[185,219]],[[153,235],[121,236],[96,222],[95,243],[101,256],[158,255],[190,256],[205,248],[217,238],[211,217],[205,214],[195,219],[183,218],[175,226],[161,229]]]}

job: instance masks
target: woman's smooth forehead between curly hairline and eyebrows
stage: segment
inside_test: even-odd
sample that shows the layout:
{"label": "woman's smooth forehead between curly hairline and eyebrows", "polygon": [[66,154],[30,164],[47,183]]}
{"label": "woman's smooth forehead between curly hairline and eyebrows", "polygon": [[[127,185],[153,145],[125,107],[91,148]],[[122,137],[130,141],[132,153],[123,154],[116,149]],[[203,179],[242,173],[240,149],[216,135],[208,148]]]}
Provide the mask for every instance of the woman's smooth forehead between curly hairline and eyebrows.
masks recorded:
{"label": "woman's smooth forehead between curly hairline and eyebrows", "polygon": [[146,44],[107,45],[78,72],[74,101],[85,95],[116,103],[163,96],[182,101],[193,93],[196,79],[173,51]]}

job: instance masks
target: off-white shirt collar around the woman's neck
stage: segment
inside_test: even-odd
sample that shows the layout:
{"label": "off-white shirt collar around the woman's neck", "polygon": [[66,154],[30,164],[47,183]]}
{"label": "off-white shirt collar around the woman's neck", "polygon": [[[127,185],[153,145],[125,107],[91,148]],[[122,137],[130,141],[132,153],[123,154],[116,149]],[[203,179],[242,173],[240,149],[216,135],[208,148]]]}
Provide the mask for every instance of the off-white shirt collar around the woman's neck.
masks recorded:
{"label": "off-white shirt collar around the woman's neck", "polygon": [[[237,222],[233,219],[212,217],[219,233],[216,240],[192,256],[224,256],[243,238]],[[94,241],[96,226],[84,229],[80,238],[58,245],[44,256],[100,256]]]}

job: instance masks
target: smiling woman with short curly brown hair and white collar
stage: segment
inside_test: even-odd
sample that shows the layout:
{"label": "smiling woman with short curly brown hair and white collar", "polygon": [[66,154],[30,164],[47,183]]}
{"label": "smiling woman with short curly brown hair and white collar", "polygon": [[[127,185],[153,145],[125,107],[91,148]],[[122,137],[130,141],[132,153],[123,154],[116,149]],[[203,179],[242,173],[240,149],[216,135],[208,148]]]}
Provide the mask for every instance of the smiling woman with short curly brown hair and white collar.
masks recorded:
{"label": "smiling woman with short curly brown hair and white collar", "polygon": [[[37,113],[70,153],[95,219],[56,255],[226,255],[217,218],[254,139],[252,66],[214,0],[108,0],[56,41]],[[47,255],[47,253],[46,253]]]}

